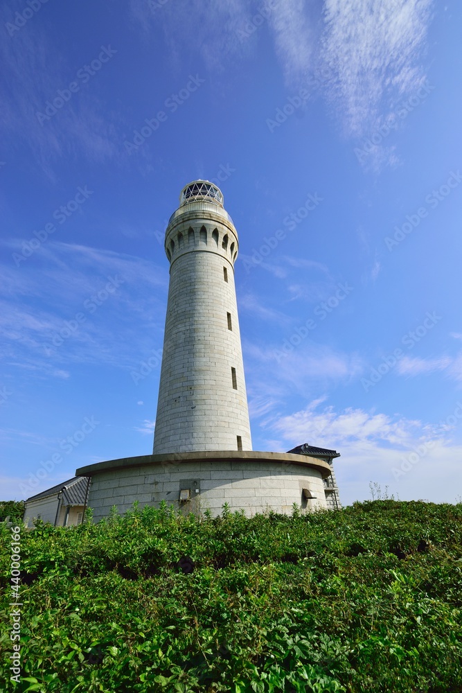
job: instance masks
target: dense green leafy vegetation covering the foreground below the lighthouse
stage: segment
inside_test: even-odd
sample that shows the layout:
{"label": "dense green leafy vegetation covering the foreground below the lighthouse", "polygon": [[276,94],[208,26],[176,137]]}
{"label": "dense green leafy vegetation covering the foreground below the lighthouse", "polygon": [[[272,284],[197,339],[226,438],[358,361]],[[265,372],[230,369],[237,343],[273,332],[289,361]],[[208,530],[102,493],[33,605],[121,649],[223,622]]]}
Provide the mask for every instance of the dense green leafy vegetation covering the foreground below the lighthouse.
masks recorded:
{"label": "dense green leafy vegetation covering the foreground below the lighthouse", "polygon": [[0,532],[1,691],[462,692],[461,503]]}

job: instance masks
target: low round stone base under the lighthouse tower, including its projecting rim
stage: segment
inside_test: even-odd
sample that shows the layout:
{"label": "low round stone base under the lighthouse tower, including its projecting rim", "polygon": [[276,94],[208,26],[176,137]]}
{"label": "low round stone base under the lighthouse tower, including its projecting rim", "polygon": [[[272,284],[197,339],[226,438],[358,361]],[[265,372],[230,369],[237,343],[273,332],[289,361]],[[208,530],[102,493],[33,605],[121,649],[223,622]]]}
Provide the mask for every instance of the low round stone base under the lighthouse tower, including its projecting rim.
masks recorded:
{"label": "low round stone base under the lighthouse tower, including its projecting rim", "polygon": [[91,477],[87,505],[98,522],[112,506],[123,513],[136,500],[140,507],[165,500],[197,515],[210,509],[213,516],[225,502],[247,516],[291,514],[293,503],[305,511],[326,509],[323,478],[330,466],[307,455],[220,450],[114,459],[75,473]]}

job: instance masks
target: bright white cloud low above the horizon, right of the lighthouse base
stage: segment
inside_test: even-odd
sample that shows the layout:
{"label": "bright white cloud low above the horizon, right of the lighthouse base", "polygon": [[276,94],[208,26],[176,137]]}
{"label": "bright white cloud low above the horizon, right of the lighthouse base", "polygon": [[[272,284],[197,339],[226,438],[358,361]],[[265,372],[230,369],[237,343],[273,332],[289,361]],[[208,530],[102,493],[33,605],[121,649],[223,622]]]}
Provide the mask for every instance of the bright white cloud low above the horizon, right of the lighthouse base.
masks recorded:
{"label": "bright white cloud low above the horizon, right of the lighthouse base", "polygon": [[[444,422],[434,426],[353,408],[321,410],[321,402],[312,402],[289,416],[274,417],[262,426],[269,437],[283,439],[287,449],[308,442],[337,450],[341,457],[335,462],[335,473],[344,504],[371,498],[370,481],[379,483],[382,492],[389,486],[389,493],[400,500],[456,500],[462,482],[462,446],[448,437]],[[462,418],[453,418],[454,434]]]}

